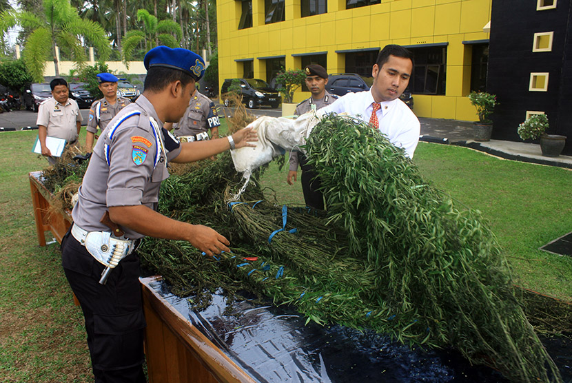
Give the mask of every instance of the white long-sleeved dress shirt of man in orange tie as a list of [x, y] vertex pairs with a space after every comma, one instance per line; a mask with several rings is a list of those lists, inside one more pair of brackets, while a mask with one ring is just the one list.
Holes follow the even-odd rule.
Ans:
[[[371, 90], [348, 93], [337, 99], [336, 102], [320, 109], [320, 112], [323, 114], [346, 112], [369, 123], [371, 112], [374, 110], [372, 106], [374, 102]], [[413, 158], [421, 130], [417, 116], [400, 99], [382, 101], [380, 104], [381, 108], [377, 112], [380, 132], [386, 134], [389, 142], [396, 147], [405, 149], [409, 158]]]

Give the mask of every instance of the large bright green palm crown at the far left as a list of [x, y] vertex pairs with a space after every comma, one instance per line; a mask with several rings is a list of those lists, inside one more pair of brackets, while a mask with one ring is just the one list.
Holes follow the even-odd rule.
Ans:
[[86, 61], [84, 41], [89, 41], [103, 60], [111, 53], [105, 30], [99, 23], [81, 19], [69, 0], [44, 0], [42, 16], [28, 11], [0, 13], [0, 30], [3, 33], [16, 25], [30, 31], [25, 39], [23, 59], [34, 81], [43, 81], [45, 61], [50, 54], [54, 59], [56, 76], [59, 76], [56, 45], [70, 52], [73, 61], [80, 66]]

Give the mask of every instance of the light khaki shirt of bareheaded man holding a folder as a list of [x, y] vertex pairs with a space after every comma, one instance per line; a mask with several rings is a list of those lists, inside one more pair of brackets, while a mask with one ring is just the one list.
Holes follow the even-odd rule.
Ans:
[[75, 100], [68, 99], [61, 104], [50, 97], [40, 104], [36, 123], [48, 128], [48, 136], [73, 143], [77, 140], [77, 121], [81, 123], [83, 118]]

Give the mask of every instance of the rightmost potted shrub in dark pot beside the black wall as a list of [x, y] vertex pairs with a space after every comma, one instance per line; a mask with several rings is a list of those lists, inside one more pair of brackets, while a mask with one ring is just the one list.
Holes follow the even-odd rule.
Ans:
[[523, 140], [540, 138], [542, 156], [558, 157], [566, 145], [566, 136], [546, 134], [549, 127], [546, 114], [533, 114], [527, 118], [527, 121], [518, 125], [518, 135]]

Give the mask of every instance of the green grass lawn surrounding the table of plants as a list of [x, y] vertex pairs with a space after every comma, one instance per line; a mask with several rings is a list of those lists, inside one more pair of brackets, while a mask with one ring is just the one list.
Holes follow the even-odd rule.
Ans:
[[[73, 304], [58, 245], [41, 248], [37, 242], [28, 172], [48, 162], [31, 152], [36, 136], [0, 133], [0, 382], [88, 382], [83, 316]], [[458, 207], [482, 212], [515, 282], [572, 300], [572, 258], [538, 250], [572, 230], [571, 171], [428, 143], [420, 143], [414, 161]], [[303, 203], [300, 179], [289, 186], [286, 175], [287, 165], [279, 172], [273, 163], [263, 185], [280, 204]]]

